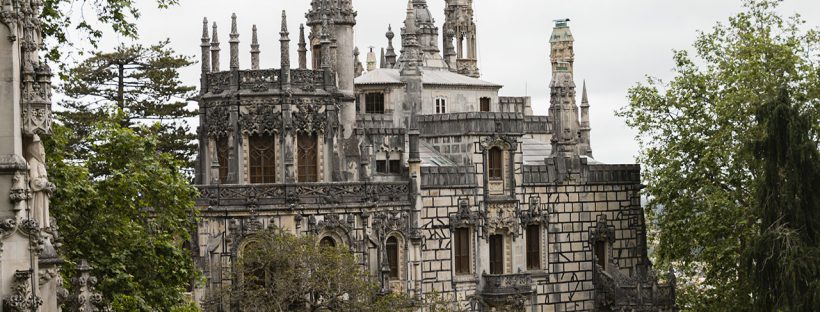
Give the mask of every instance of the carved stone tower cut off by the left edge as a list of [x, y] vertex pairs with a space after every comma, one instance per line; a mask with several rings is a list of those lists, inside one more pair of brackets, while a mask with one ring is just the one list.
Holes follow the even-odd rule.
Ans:
[[[13, 4], [12, 4], [13, 3]], [[2, 311], [57, 311], [60, 259], [42, 137], [51, 134], [51, 69], [40, 58], [40, 1], [0, 4], [0, 299]]]

